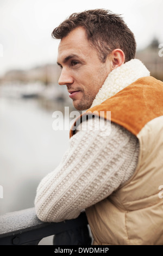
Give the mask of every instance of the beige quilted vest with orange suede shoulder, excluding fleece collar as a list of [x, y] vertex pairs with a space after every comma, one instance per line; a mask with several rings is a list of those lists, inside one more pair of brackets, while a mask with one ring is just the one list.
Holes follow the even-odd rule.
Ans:
[[[111, 121], [140, 142], [134, 175], [86, 209], [94, 245], [163, 245], [163, 83], [143, 77], [87, 112], [111, 111]], [[86, 113], [83, 114], [83, 116]], [[83, 116], [78, 121], [83, 120]], [[76, 123], [74, 124], [76, 125]], [[70, 130], [70, 137], [74, 129]]]

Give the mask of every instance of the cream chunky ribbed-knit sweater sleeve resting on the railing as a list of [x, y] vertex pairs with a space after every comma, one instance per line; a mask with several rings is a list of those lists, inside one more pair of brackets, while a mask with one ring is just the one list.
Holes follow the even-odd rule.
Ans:
[[60, 222], [76, 218], [134, 173], [138, 139], [114, 123], [109, 136], [104, 136], [104, 132], [105, 127], [95, 130], [90, 121], [85, 121], [72, 136], [59, 166], [37, 187], [35, 209], [40, 220]]

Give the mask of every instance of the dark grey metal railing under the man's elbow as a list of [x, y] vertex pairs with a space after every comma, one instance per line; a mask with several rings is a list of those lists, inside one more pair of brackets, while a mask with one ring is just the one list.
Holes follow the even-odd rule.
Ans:
[[63, 222], [42, 222], [34, 208], [0, 216], [0, 245], [38, 245], [54, 235], [53, 245], [91, 245], [92, 239], [85, 212]]

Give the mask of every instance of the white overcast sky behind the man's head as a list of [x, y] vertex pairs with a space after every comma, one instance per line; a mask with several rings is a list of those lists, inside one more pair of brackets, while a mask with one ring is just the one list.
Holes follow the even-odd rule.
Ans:
[[0, 75], [55, 63], [59, 40], [52, 39], [53, 29], [74, 12], [96, 8], [122, 14], [137, 49], [154, 37], [163, 43], [162, 0], [0, 0]]

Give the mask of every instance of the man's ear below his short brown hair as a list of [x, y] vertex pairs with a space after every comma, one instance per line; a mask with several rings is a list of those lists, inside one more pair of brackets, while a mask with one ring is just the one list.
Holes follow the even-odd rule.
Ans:
[[111, 52], [111, 69], [116, 69], [121, 66], [125, 61], [124, 52], [121, 49], [115, 49]]

